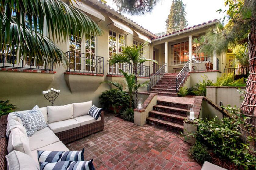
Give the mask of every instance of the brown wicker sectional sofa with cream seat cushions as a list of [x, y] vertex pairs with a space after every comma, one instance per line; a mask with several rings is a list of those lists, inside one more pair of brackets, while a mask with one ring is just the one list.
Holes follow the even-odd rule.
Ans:
[[[45, 127], [44, 129], [37, 131], [31, 137], [28, 137], [28, 141], [29, 141], [28, 146], [30, 151], [28, 151], [29, 153], [25, 153], [26, 151], [23, 152], [29, 155], [30, 157], [32, 157], [33, 160], [38, 164], [38, 166], [39, 166], [39, 163], [37, 161], [37, 150], [68, 151], [69, 149], [65, 146], [65, 144], [72, 141], [76, 141], [80, 138], [83, 138], [87, 135], [93, 134], [95, 132], [98, 132], [104, 129], [104, 113], [103, 112], [101, 112], [101, 116], [98, 118], [98, 120], [95, 120], [93, 117], [92, 119], [91, 116], [87, 114], [75, 117], [75, 113], [74, 113], [72, 115], [72, 117], [73, 116], [74, 117], [70, 120], [68, 119], [68, 120], [61, 120], [59, 122], [51, 122], [49, 119], [50, 114], [48, 113], [49, 108], [43, 107], [43, 108], [40, 108], [40, 110], [44, 114], [45, 121], [48, 123], [48, 127]], [[8, 130], [8, 128], [10, 127], [10, 123], [8, 123], [8, 121], [10, 121], [12, 118], [17, 119], [17, 117], [14, 117], [14, 116], [15, 114], [9, 113], [8, 116], [4, 115], [4, 116], [1, 116], [0, 118], [0, 169], [7, 169], [7, 166], [8, 166], [5, 159], [5, 156], [8, 154], [8, 151], [10, 152], [10, 148], [11, 148], [8, 145], [8, 141], [13, 143], [12, 141], [14, 138], [13, 135], [16, 132], [12, 133], [12, 131], [17, 131], [15, 129]], [[60, 114], [59, 116], [60, 118], [61, 117], [65, 118], [65, 116], [62, 116], [62, 114]], [[57, 119], [59, 119], [59, 117], [57, 117]], [[17, 127], [16, 129], [19, 129], [19, 128]], [[8, 131], [10, 131], [9, 138], [7, 137]], [[18, 149], [15, 149], [14, 147], [14, 150], [18, 150]]]

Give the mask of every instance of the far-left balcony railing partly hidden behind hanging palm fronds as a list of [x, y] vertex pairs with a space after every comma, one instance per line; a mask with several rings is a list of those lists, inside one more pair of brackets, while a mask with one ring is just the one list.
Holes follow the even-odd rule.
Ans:
[[46, 61], [37, 60], [36, 57], [24, 59], [24, 56], [19, 58], [14, 53], [8, 53], [0, 56], [0, 68], [50, 71], [53, 70], [53, 65], [48, 66]]

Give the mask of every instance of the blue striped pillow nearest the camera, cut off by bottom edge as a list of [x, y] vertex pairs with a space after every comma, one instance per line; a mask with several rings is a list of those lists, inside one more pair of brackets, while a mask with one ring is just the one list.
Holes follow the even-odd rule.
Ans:
[[39, 164], [40, 170], [95, 170], [92, 161], [39, 162]]

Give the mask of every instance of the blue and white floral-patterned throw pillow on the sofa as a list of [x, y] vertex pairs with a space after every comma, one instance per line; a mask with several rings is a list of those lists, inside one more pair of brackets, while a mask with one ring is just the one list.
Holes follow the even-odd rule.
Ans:
[[30, 111], [16, 112], [15, 114], [20, 117], [28, 137], [32, 136], [36, 131], [46, 127], [44, 115], [37, 105]]

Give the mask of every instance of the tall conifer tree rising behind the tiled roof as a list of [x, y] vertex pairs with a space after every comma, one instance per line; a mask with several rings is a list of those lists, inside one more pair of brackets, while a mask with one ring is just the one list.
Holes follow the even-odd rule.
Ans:
[[166, 19], [166, 32], [172, 33], [180, 29], [184, 29], [187, 26], [187, 20], [185, 18], [186, 5], [183, 4], [182, 0], [173, 0], [170, 14]]

